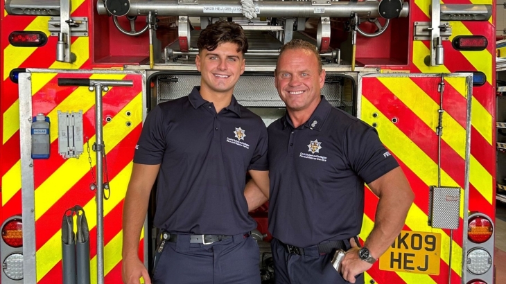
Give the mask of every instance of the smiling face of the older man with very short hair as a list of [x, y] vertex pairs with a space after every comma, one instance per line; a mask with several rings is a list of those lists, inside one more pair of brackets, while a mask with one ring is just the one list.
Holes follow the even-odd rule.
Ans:
[[318, 58], [303, 48], [287, 49], [279, 56], [274, 85], [286, 104], [288, 114], [311, 116], [320, 103], [325, 71]]

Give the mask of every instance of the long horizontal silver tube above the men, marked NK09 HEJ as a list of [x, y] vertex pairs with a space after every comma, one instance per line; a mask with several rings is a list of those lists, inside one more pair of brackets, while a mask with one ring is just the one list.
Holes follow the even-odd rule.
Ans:
[[[20, 1], [20, 0], [18, 0]], [[99, 15], [108, 15], [106, 0], [97, 2]], [[331, 2], [325, 5], [324, 10], [315, 14], [315, 6], [312, 1], [258, 1], [255, 6], [258, 8], [259, 17], [350, 17], [357, 14], [359, 17], [381, 17], [379, 5], [381, 2], [347, 1]], [[189, 16], [189, 17], [237, 17], [234, 10], [241, 9], [240, 1], [229, 0], [199, 0], [198, 3], [180, 3], [178, 0], [131, 0], [130, 9], [125, 14], [123, 11], [112, 12], [114, 16], [123, 15], [148, 15], [148, 11], [154, 11], [157, 16]], [[228, 12], [229, 11], [229, 12]], [[404, 2], [402, 10], [399, 10], [396, 17], [408, 17], [409, 4]], [[119, 14], [119, 15], [115, 15]]]

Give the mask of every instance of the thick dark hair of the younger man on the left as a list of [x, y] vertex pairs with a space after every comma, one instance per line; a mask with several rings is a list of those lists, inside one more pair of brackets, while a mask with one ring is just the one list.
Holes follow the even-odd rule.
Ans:
[[197, 41], [198, 52], [200, 53], [204, 48], [213, 51], [218, 45], [225, 42], [237, 44], [237, 51], [240, 51], [243, 55], [247, 52], [247, 38], [243, 28], [236, 23], [223, 20], [216, 21], [216, 23], [210, 24], [202, 30]]

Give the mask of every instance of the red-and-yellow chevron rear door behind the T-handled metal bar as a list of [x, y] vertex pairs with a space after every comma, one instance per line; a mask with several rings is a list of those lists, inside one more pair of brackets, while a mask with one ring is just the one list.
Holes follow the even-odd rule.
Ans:
[[[61, 283], [66, 273], [62, 218], [76, 205], [85, 211], [89, 227], [91, 279], [103, 266], [105, 283], [121, 282], [121, 215], [146, 116], [145, 85], [143, 71], [27, 69], [19, 74], [24, 283]], [[95, 150], [100, 149], [105, 153], [102, 205], [96, 198], [101, 173]], [[74, 216], [74, 233], [76, 222]], [[143, 236], [140, 256], [147, 261]]]

